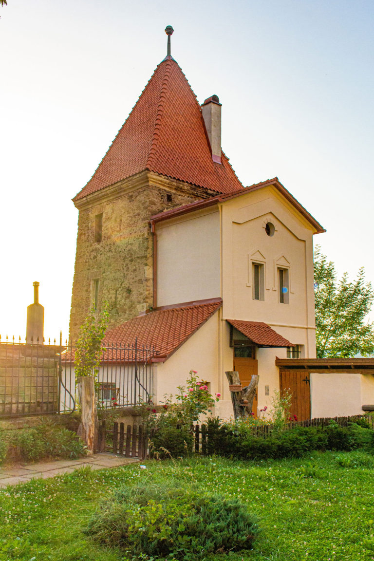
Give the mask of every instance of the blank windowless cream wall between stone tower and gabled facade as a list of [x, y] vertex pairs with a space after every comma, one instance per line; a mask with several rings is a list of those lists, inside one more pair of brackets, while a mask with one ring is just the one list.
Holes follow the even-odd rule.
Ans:
[[217, 208], [156, 226], [157, 305], [220, 296], [220, 231]]

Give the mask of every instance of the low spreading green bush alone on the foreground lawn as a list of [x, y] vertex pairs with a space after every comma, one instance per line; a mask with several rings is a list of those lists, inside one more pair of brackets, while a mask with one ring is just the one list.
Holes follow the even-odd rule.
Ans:
[[210, 553], [252, 549], [258, 526], [238, 499], [144, 485], [117, 492], [86, 533], [130, 555], [191, 561]]

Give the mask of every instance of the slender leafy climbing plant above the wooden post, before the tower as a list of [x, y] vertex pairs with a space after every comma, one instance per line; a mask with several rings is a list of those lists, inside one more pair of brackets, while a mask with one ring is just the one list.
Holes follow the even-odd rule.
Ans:
[[96, 376], [99, 373], [101, 346], [108, 325], [108, 304], [98, 312], [93, 305], [80, 329], [80, 337], [76, 343], [75, 375]]

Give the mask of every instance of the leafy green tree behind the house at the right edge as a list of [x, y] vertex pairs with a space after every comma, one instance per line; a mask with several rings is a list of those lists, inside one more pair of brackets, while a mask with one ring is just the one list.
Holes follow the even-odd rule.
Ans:
[[335, 265], [316, 246], [314, 254], [317, 358], [353, 357], [374, 352], [374, 323], [366, 317], [374, 300], [370, 282], [364, 282], [364, 269], [348, 280], [336, 278]]

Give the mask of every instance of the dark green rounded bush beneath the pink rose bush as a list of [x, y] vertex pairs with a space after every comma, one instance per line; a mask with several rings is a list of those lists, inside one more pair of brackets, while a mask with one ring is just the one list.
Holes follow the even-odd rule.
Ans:
[[193, 435], [186, 426], [178, 428], [164, 424], [151, 436], [151, 455], [161, 459], [179, 458], [192, 454]]

